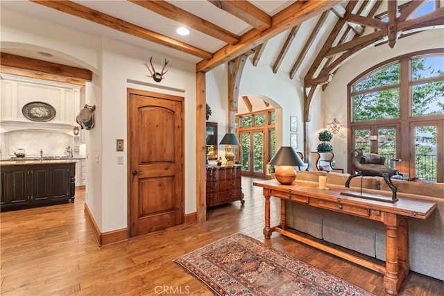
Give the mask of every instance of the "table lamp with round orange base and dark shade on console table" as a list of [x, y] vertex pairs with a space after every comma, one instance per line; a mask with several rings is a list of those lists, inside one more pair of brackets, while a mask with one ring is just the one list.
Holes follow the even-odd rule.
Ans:
[[275, 177], [280, 184], [289, 185], [296, 179], [296, 170], [293, 166], [305, 166], [299, 155], [290, 146], [281, 146], [278, 153], [268, 162], [277, 166]]

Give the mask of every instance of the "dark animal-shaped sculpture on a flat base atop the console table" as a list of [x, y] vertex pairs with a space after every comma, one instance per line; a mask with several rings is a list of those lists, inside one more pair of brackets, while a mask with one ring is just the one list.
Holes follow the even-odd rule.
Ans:
[[[353, 177], [358, 177], [358, 176], [383, 177], [384, 181], [387, 183], [387, 185], [390, 187], [393, 193], [391, 200], [386, 200], [386, 198], [384, 199], [379, 195], [377, 197], [375, 197], [375, 195], [371, 196], [359, 195], [359, 196], [360, 197], [362, 196], [364, 198], [372, 198], [376, 200], [383, 200], [389, 202], [395, 202], [396, 200], [398, 200], [398, 198], [396, 198], [397, 188], [391, 182], [391, 177], [393, 177], [394, 175], [399, 175], [399, 171], [393, 168], [389, 168], [388, 166], [384, 166], [384, 160], [385, 160], [384, 157], [381, 157], [375, 153], [366, 153], [365, 155], [363, 155], [362, 150], [357, 149], [357, 157], [354, 157], [352, 159], [352, 168], [357, 173], [350, 175], [348, 177], [348, 180], [345, 182], [345, 187], [347, 188], [350, 187], [350, 181], [352, 180]], [[343, 194], [356, 196], [354, 194], [350, 194], [350, 192]]]

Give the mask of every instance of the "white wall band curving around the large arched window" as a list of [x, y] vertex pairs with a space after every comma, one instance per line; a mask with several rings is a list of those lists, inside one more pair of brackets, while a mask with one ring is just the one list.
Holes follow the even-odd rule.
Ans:
[[[343, 64], [336, 72], [332, 82], [325, 92], [322, 92], [323, 127], [332, 122], [336, 117], [344, 125], [341, 131], [334, 135], [332, 146], [334, 148], [336, 167], [347, 168], [347, 85], [358, 76], [379, 62], [391, 58], [422, 51], [425, 49], [438, 49], [444, 46], [444, 34], [442, 29], [434, 29], [412, 35], [396, 41], [395, 48], [391, 49], [387, 44], [372, 46], [358, 53], [348, 62]], [[316, 110], [316, 109], [314, 109]]]

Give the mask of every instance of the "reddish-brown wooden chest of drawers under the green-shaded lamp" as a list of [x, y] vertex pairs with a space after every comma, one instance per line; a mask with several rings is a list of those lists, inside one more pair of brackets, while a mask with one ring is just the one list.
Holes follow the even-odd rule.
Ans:
[[241, 188], [241, 166], [207, 166], [207, 207], [240, 200], [245, 203]]

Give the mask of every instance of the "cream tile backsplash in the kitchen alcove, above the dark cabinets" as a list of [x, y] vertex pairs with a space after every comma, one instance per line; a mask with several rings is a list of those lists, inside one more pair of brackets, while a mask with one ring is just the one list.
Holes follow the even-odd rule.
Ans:
[[18, 148], [25, 150], [26, 156], [40, 156], [40, 149], [45, 156], [64, 155], [67, 146], [74, 146], [74, 137], [60, 132], [45, 130], [19, 130], [1, 134], [1, 159], [15, 157]]

